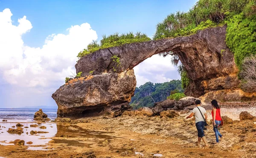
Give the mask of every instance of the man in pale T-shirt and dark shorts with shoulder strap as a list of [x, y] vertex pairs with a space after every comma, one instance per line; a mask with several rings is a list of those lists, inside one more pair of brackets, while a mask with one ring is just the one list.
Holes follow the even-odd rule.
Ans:
[[204, 107], [201, 107], [200, 100], [196, 100], [195, 104], [197, 107], [195, 107], [192, 110], [192, 113], [189, 116], [187, 116], [186, 119], [191, 118], [192, 116], [195, 115], [195, 126], [198, 130], [198, 146], [200, 145], [201, 139], [203, 139], [205, 147], [208, 147], [206, 137], [204, 135], [204, 120], [207, 119], [207, 113]]

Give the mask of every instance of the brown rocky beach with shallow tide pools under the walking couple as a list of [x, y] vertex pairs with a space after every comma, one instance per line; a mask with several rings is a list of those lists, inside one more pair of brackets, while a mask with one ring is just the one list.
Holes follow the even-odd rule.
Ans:
[[[251, 114], [255, 112], [255, 107], [244, 108], [246, 109], [222, 108], [222, 115], [237, 120], [243, 110]], [[109, 119], [95, 117], [81, 119], [87, 123], [77, 124], [49, 122], [40, 124], [46, 126], [47, 129], [44, 131], [49, 133], [38, 135], [26, 135], [26, 128], [22, 135], [9, 134], [6, 132], [8, 127], [16, 123], [0, 122], [0, 141], [7, 140], [0, 143], [0, 156], [4, 158], [256, 157], [256, 122], [236, 121], [234, 124], [225, 124], [220, 130], [224, 140], [219, 144], [215, 144], [215, 135], [212, 126], [209, 126], [205, 134], [210, 146], [204, 148], [203, 142], [201, 147], [196, 146], [195, 122], [192, 119], [184, 119], [187, 115], [168, 119], [159, 116], [121, 116]], [[21, 124], [29, 127], [29, 124], [34, 123]], [[42, 131], [39, 127], [29, 127], [27, 130]], [[4, 133], [1, 133], [2, 131]], [[17, 138], [24, 140], [25, 146], [6, 144]], [[31, 140], [32, 145], [26, 144]], [[54, 140], [55, 143], [48, 143], [49, 140]]]

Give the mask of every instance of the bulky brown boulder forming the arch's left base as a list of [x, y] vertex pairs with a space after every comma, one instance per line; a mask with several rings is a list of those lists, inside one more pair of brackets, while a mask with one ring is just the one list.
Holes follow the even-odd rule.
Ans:
[[58, 104], [58, 117], [119, 116], [131, 108], [129, 102], [135, 87], [133, 70], [105, 73], [73, 79], [52, 98]]

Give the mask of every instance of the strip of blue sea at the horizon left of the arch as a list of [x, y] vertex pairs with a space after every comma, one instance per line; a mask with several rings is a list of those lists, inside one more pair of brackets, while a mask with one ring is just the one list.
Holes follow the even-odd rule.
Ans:
[[[7, 121], [33, 121], [35, 112], [39, 109], [1, 109], [0, 122], [5, 119]], [[43, 112], [48, 115], [48, 118], [54, 120], [57, 117], [57, 109], [43, 109]]]

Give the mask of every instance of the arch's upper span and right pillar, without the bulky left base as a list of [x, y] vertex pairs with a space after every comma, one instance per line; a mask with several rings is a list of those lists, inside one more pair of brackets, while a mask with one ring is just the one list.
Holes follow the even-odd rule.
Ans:
[[191, 79], [187, 96], [199, 97], [214, 90], [235, 90], [239, 89], [240, 83], [236, 76], [238, 69], [225, 39], [226, 26], [223, 26], [198, 31], [188, 37], [103, 49], [81, 58], [76, 64], [76, 72], [83, 72], [84, 75], [90, 71], [94, 74], [113, 72], [113, 55], [120, 58], [122, 66], [119, 71], [131, 70], [154, 54], [172, 51], [179, 56]]

